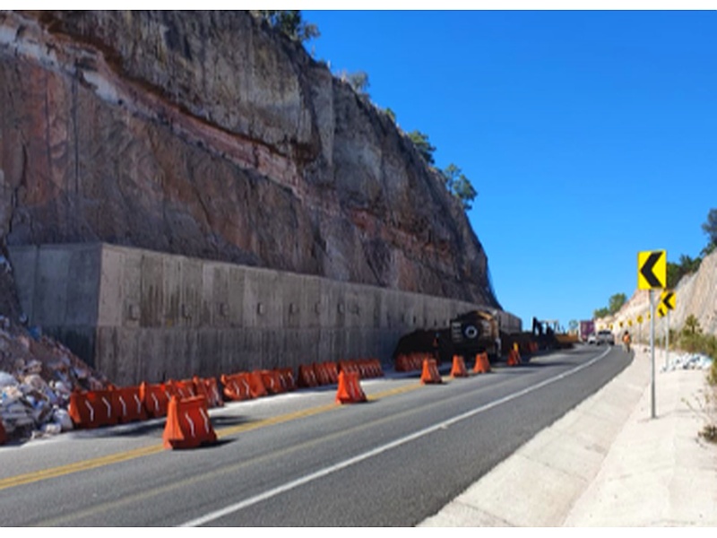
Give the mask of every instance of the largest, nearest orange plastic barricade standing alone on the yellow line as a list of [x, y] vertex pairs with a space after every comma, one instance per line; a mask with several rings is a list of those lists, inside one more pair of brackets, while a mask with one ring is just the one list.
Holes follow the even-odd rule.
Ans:
[[216, 440], [207, 399], [204, 396], [185, 399], [172, 396], [167, 410], [167, 424], [162, 434], [164, 447], [194, 448]]

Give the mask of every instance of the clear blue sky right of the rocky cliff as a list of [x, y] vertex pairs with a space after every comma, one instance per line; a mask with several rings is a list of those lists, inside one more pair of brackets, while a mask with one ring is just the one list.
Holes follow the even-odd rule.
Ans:
[[588, 319], [632, 296], [637, 253], [697, 256], [717, 208], [717, 12], [304, 11], [307, 44], [368, 74], [479, 195], [505, 310]]

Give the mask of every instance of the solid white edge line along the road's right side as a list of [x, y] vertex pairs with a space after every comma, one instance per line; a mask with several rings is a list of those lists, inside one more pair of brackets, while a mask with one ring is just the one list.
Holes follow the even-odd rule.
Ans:
[[350, 467], [350, 465], [358, 464], [364, 460], [367, 460], [370, 457], [378, 456], [379, 454], [382, 454], [382, 453], [384, 453], [388, 450], [391, 450], [395, 447], [400, 447], [402, 445], [405, 445], [406, 443], [409, 443], [410, 441], [425, 437], [428, 434], [433, 433], [434, 431], [443, 430], [446, 426], [451, 426], [451, 425], [455, 424], [456, 422], [464, 421], [464, 420], [469, 419], [472, 416], [477, 415], [481, 412], [486, 412], [489, 409], [497, 407], [498, 405], [506, 404], [516, 398], [520, 398], [521, 396], [528, 395], [531, 392], [534, 392], [544, 386], [548, 386], [552, 383], [555, 383], [556, 381], [559, 381], [560, 379], [565, 379], [566, 377], [572, 376], [573, 374], [579, 372], [580, 370], [586, 369], [589, 366], [592, 366], [598, 360], [602, 360], [605, 357], [605, 355], [607, 355], [609, 353], [609, 351], [611, 351], [611, 349], [612, 348], [609, 347], [608, 349], [606, 349], [603, 353], [601, 353], [594, 359], [589, 360], [588, 362], [585, 362], [584, 364], [581, 364], [580, 366], [578, 366], [574, 369], [563, 372], [562, 374], [559, 374], [556, 377], [550, 377], [549, 379], [541, 381], [538, 385], [523, 388], [523, 390], [520, 390], [512, 395], [506, 395], [502, 398], [495, 400], [494, 402], [491, 402], [491, 403], [485, 404], [485, 405], [481, 405], [480, 407], [477, 407], [476, 409], [472, 409], [469, 412], [464, 412], [460, 415], [456, 415], [456, 416], [454, 416], [454, 418], [448, 419], [447, 421], [443, 421], [438, 424], [434, 424], [433, 426], [430, 426], [424, 430], [419, 430], [419, 431], [416, 431], [415, 433], [412, 433], [408, 436], [398, 438], [390, 443], [386, 443], [385, 445], [382, 445], [381, 447], [376, 447], [373, 450], [369, 450], [368, 452], [364, 452], [363, 454], [359, 454], [358, 456], [351, 457], [351, 458], [344, 460], [338, 464], [333, 464], [330, 467], [325, 467], [324, 469], [322, 469], [320, 471], [316, 471], [315, 473], [307, 474], [306, 476], [298, 478], [297, 480], [287, 482], [287, 483], [279, 486], [278, 488], [273, 488], [272, 490], [264, 491], [263, 493], [260, 493], [259, 495], [255, 495], [254, 497], [250, 497], [249, 499], [245, 499], [245, 500], [242, 500], [233, 505], [229, 505], [226, 508], [221, 508], [220, 510], [215, 510], [214, 512], [210, 512], [206, 516], [197, 517], [196, 519], [192, 519], [182, 525], [177, 525], [177, 526], [194, 527], [194, 526], [199, 526], [199, 525], [204, 525], [204, 524], [210, 523], [216, 519], [219, 519], [220, 517], [229, 516], [229, 514], [233, 514], [234, 512], [238, 512], [239, 510], [242, 510], [244, 508], [249, 508], [259, 502], [262, 502], [263, 500], [271, 499], [272, 497], [280, 495], [281, 493], [285, 493], [286, 491], [293, 490], [294, 488], [298, 488], [299, 486], [303, 486], [304, 484], [307, 484], [308, 482], [313, 482], [313, 481], [315, 481], [319, 478], [323, 478], [324, 476], [327, 476], [331, 473], [341, 471], [341, 469]]

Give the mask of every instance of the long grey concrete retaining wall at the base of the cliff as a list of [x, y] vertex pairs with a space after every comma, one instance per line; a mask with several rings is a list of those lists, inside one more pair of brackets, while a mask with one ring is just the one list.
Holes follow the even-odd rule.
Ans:
[[[468, 302], [107, 244], [11, 247], [22, 308], [123, 386], [313, 361], [387, 362]], [[508, 332], [520, 319], [499, 313]]]

